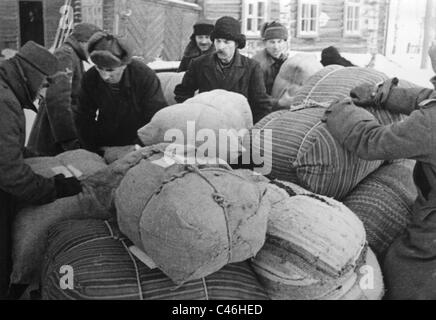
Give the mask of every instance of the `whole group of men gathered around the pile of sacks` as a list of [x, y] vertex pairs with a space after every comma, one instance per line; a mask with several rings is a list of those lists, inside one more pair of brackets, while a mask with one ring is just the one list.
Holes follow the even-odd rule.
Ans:
[[[266, 23], [261, 30], [265, 49], [252, 59], [239, 52], [246, 38], [234, 18], [222, 17], [215, 24], [200, 21], [193, 29], [178, 70], [186, 73], [174, 91], [177, 102], [197, 91], [237, 92], [247, 98], [254, 122], [286, 107], [270, 96], [287, 59], [286, 27]], [[335, 48], [327, 49], [324, 65], [352, 65]], [[88, 59], [94, 66], [85, 72], [83, 62]], [[34, 101], [42, 88], [45, 98], [37, 110]], [[436, 297], [434, 92], [400, 89], [396, 81], [375, 88], [361, 86], [351, 92], [350, 100], [333, 104], [323, 119], [336, 139], [365, 159], [418, 160], [415, 178], [420, 193], [414, 221], [386, 258], [386, 277], [393, 288], [390, 295], [395, 298]], [[404, 122], [382, 126], [360, 108], [374, 104], [410, 116]], [[76, 178], [44, 178], [24, 159], [78, 148], [102, 153], [110, 146], [141, 145], [137, 130], [166, 106], [156, 73], [132, 58], [132, 48], [123, 39], [92, 24], [78, 24], [54, 54], [28, 42], [0, 65], [0, 299], [14, 295], [9, 275], [11, 225], [17, 208], [82, 191]], [[24, 109], [37, 112], [27, 146]]]

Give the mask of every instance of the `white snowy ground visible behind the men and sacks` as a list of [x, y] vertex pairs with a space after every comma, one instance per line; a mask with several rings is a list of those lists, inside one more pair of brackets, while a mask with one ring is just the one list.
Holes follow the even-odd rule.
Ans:
[[[292, 56], [297, 52], [292, 51], [290, 55]], [[314, 52], [317, 57], [321, 60], [321, 53]], [[345, 58], [350, 60], [353, 64], [360, 67], [366, 67], [371, 61], [370, 54], [354, 54], [354, 53], [341, 53]], [[408, 80], [419, 86], [432, 88], [430, 83], [430, 78], [434, 75], [433, 70], [430, 67], [427, 69], [420, 69], [420, 56], [419, 55], [403, 55], [403, 56], [393, 56], [385, 57], [382, 55], [377, 55], [375, 60], [374, 69], [384, 72], [389, 77], [398, 77], [400, 79]], [[152, 69], [172, 69], [177, 68], [179, 61], [154, 61], [148, 65]], [[86, 69], [91, 67], [87, 65]], [[32, 128], [33, 121], [35, 119], [35, 113], [29, 110], [25, 111], [27, 126], [26, 133], [29, 135]]]

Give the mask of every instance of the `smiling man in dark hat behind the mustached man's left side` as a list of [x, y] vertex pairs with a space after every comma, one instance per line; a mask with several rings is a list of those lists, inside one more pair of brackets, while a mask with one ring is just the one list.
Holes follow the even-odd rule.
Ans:
[[189, 41], [188, 46], [183, 53], [183, 58], [177, 72], [188, 70], [189, 64], [193, 59], [215, 51], [215, 47], [210, 40], [212, 30], [212, 22], [204, 20], [194, 24], [194, 33], [191, 35], [191, 41]]

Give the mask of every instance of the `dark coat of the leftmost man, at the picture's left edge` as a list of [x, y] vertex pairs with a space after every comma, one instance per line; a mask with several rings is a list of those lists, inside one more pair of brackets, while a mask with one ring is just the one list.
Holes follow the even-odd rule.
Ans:
[[27, 150], [23, 108], [35, 110], [16, 64], [17, 58], [0, 66], [0, 190], [14, 200], [43, 204], [56, 198], [54, 179], [44, 178], [24, 163]]

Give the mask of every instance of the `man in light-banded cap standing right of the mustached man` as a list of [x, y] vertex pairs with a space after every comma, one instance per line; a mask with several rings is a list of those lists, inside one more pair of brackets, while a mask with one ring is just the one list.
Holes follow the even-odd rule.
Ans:
[[288, 30], [276, 21], [265, 23], [261, 30], [265, 49], [256, 53], [254, 60], [260, 63], [265, 80], [266, 92], [270, 95], [277, 74], [288, 58], [286, 53]]

